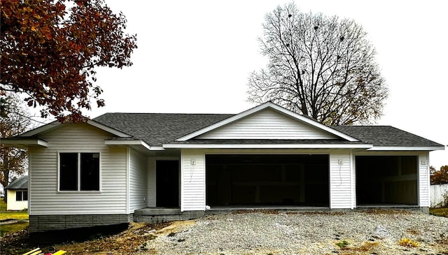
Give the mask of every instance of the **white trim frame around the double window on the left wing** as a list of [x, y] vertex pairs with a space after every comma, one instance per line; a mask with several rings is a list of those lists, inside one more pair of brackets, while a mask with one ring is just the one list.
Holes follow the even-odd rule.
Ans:
[[[76, 172], [76, 177], [78, 178], [77, 180], [77, 190], [70, 190], [70, 191], [66, 191], [66, 190], [61, 190], [61, 183], [60, 183], [60, 177], [61, 177], [61, 157], [60, 154], [61, 153], [76, 153], [78, 154], [78, 169]], [[81, 169], [80, 169], [80, 154], [81, 153], [95, 153], [95, 154], [99, 154], [99, 190], [87, 190], [87, 191], [83, 191], [80, 190], [81, 187], [81, 183], [80, 183], [80, 179], [81, 179]], [[80, 194], [80, 193], [102, 193], [102, 152], [98, 152], [98, 151], [91, 151], [91, 150], [59, 150], [57, 151], [57, 193], [64, 193], [64, 194], [69, 194], [69, 193], [73, 193], [73, 194]]]

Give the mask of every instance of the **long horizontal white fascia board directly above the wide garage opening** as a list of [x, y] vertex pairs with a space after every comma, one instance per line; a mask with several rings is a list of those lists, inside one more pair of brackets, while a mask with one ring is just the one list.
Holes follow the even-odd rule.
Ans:
[[179, 144], [167, 143], [164, 144], [165, 149], [369, 149], [373, 145], [356, 144], [356, 145], [325, 145], [325, 144], [311, 144], [311, 145], [297, 145], [297, 144], [250, 144], [250, 145], [217, 145], [217, 144]]

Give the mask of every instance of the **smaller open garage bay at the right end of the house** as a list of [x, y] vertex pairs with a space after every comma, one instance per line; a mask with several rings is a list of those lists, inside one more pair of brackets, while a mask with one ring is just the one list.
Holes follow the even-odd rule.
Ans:
[[418, 205], [417, 162], [417, 156], [356, 156], [357, 205]]

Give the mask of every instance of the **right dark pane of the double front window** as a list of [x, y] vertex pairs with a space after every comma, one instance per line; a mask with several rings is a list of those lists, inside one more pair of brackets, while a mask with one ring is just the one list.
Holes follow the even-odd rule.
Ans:
[[99, 153], [81, 153], [81, 190], [99, 190]]

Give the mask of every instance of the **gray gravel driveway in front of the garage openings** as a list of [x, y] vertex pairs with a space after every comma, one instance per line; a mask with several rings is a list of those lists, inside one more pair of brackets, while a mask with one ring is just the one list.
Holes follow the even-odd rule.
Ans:
[[448, 218], [407, 211], [217, 214], [151, 234], [142, 254], [448, 254]]

